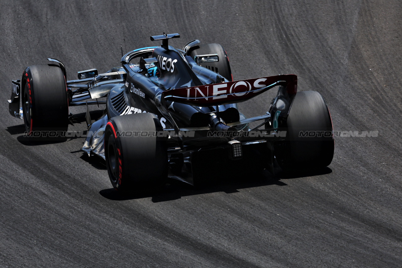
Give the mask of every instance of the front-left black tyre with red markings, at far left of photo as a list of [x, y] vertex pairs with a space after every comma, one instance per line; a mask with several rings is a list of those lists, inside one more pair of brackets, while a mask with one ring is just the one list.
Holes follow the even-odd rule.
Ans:
[[55, 65], [33, 65], [22, 78], [22, 104], [25, 129], [67, 131], [68, 98], [66, 79]]

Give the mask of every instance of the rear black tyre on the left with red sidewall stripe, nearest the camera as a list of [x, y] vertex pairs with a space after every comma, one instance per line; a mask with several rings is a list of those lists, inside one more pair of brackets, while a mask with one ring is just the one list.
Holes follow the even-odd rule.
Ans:
[[166, 138], [140, 133], [161, 130], [160, 121], [152, 113], [110, 119], [105, 129], [105, 158], [114, 188], [138, 192], [144, 187], [162, 186], [168, 174]]

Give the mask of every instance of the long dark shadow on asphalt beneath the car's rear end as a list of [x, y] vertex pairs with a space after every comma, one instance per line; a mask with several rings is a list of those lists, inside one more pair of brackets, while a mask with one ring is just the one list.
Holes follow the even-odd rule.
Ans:
[[151, 197], [153, 203], [165, 202], [170, 200], [180, 199], [184, 196], [192, 196], [198, 194], [209, 194], [213, 192], [225, 192], [226, 194], [232, 194], [239, 192], [239, 189], [254, 188], [261, 186], [287, 186], [283, 180], [292, 178], [303, 178], [310, 176], [319, 176], [331, 173], [332, 170], [328, 167], [321, 170], [314, 170], [312, 172], [299, 173], [298, 175], [288, 175], [279, 173], [273, 175], [266, 170], [261, 172], [255, 172], [254, 174], [239, 174], [235, 178], [222, 178], [220, 180], [214, 180], [207, 186], [194, 187], [185, 182], [180, 182], [174, 179], [168, 179], [166, 185], [162, 190], [158, 192], [139, 192], [133, 194], [121, 194], [114, 188], [100, 190], [99, 194], [110, 200], [132, 200], [140, 198]]

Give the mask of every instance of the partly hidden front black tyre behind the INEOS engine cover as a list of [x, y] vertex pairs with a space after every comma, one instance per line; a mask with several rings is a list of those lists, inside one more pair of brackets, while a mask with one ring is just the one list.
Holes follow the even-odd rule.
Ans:
[[222, 45], [219, 44], [201, 44], [198, 45], [199, 48], [191, 51], [191, 57], [196, 55], [207, 55], [207, 54], [218, 54], [219, 61], [201, 63], [202, 67], [208, 68], [216, 73], [219, 73], [224, 78], [229, 81], [233, 81], [232, 71], [230, 70], [228, 55]]

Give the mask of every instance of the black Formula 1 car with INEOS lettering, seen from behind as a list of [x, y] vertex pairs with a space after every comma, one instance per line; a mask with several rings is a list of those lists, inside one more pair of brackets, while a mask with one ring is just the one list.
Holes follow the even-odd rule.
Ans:
[[[318, 92], [297, 92], [293, 74], [233, 81], [222, 45], [168, 45], [178, 37], [152, 36], [162, 41], [159, 47], [122, 51], [121, 67], [81, 71], [78, 80], [66, 81], [57, 59], [29, 66], [21, 80], [12, 81], [10, 114], [24, 119], [35, 138], [43, 131], [66, 133], [69, 106], [86, 105], [88, 112], [90, 104], [106, 104], [92, 124], [87, 113], [81, 150], [106, 160], [118, 190], [160, 185], [167, 177], [197, 185], [214, 168], [223, 174], [251, 168], [274, 173], [274, 165], [292, 172], [331, 163], [332, 121]], [[239, 112], [238, 102], [276, 86], [265, 115]]]

